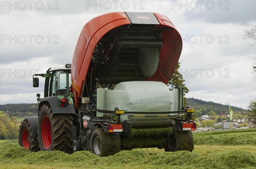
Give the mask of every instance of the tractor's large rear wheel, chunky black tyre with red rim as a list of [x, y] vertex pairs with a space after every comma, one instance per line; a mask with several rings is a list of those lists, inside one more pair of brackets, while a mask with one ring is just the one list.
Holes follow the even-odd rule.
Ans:
[[73, 118], [66, 114], [52, 114], [48, 104], [43, 104], [38, 117], [38, 141], [42, 151], [60, 150], [71, 154], [71, 126]]

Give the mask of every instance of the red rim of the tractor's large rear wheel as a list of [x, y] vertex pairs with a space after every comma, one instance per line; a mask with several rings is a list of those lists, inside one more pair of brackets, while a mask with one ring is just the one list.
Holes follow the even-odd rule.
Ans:
[[52, 142], [52, 127], [48, 116], [44, 116], [42, 121], [42, 140], [45, 148], [49, 149]]

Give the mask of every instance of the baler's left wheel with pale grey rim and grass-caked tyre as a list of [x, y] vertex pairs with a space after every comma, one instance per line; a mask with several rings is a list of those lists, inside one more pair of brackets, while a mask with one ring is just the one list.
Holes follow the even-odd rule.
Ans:
[[91, 152], [100, 157], [114, 155], [121, 151], [120, 138], [114, 138], [112, 134], [107, 134], [102, 128], [93, 131], [91, 137]]

